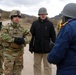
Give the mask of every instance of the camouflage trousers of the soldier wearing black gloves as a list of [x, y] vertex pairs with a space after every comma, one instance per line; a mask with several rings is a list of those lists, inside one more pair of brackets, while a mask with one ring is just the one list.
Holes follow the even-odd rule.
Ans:
[[23, 50], [5, 50], [4, 51], [4, 74], [5, 75], [21, 75], [23, 69]]

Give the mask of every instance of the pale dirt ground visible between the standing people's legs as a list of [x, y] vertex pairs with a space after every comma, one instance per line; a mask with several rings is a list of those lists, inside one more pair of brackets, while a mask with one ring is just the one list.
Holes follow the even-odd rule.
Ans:
[[[33, 74], [33, 54], [28, 50], [29, 46], [24, 48], [24, 69], [22, 75], [34, 75]], [[43, 73], [42, 73], [43, 75]], [[52, 65], [52, 75], [56, 75], [56, 66]]]

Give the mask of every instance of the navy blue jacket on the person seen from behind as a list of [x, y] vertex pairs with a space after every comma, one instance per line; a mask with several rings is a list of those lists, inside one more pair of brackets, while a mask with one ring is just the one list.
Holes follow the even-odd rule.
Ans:
[[56, 75], [76, 75], [76, 20], [62, 27], [47, 59], [57, 65]]

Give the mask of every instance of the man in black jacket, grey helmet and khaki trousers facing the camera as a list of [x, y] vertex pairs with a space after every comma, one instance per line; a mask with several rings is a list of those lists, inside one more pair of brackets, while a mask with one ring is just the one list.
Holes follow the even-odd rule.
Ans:
[[30, 52], [34, 52], [34, 75], [41, 75], [41, 61], [44, 63], [44, 74], [51, 75], [51, 67], [47, 62], [47, 55], [52, 49], [51, 41], [55, 42], [56, 34], [53, 24], [47, 18], [47, 10], [42, 7], [38, 12], [39, 18], [34, 21], [30, 32], [32, 39]]

